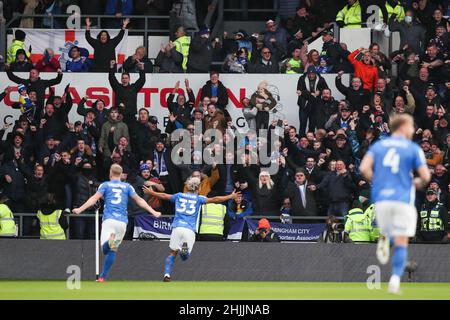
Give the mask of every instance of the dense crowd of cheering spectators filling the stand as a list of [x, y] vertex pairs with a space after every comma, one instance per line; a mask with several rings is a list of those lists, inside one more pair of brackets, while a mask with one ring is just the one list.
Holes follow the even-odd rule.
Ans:
[[[52, 93], [49, 99], [44, 98], [45, 90], [60, 83], [63, 77], [60, 66], [52, 60], [52, 52], [47, 51], [43, 68], [52, 67], [58, 76], [43, 80], [40, 71], [49, 70], [27, 65], [26, 48], [19, 44], [16, 58], [6, 64], [6, 71], [10, 80], [26, 89], [19, 88], [23, 96], [21, 93], [21, 102], [13, 106], [22, 115], [0, 149], [3, 156], [0, 178], [8, 206], [13, 212], [35, 212], [45, 199], [43, 194], [54, 193], [57, 205], [69, 212], [95, 192], [99, 182], [108, 178], [109, 166], [117, 163], [124, 168], [123, 180], [132, 183], [141, 196], [164, 213], [172, 213], [170, 204], [144, 195], [142, 185], [176, 193], [183, 190], [187, 177], [199, 176], [201, 194], [242, 191], [242, 197], [227, 204], [233, 219], [280, 213], [343, 216], [354, 200], [370, 198], [370, 185], [358, 170], [363, 155], [370, 145], [389, 135], [392, 115], [408, 113], [416, 124], [414, 140], [420, 144], [433, 171], [430, 188], [435, 190], [441, 205], [449, 208], [449, 23], [443, 18], [442, 9], [428, 3], [433, 14], [424, 15], [422, 6], [417, 8], [412, 1], [405, 7], [403, 21], [397, 21], [394, 15], [388, 17], [390, 29], [400, 30], [402, 45], [400, 50], [386, 55], [376, 43], [349, 52], [344, 44], [335, 42], [333, 33], [327, 30], [329, 22], [314, 15], [317, 7], [313, 4], [318, 3], [302, 3], [296, 16], [283, 22], [284, 27], [269, 20], [265, 32], [250, 37], [245, 30], [239, 30], [233, 38], [225, 35], [218, 42], [211, 40], [210, 30], [203, 27], [186, 48], [186, 33], [180, 27], [173, 42], [161, 45], [156, 59], [160, 72], [208, 73], [214, 57], [225, 54], [225, 72], [299, 74], [297, 91], [292, 95], [298, 97], [300, 125], [294, 126], [288, 120], [271, 121], [270, 111], [276, 102], [267, 83], [262, 81], [242, 101], [243, 115], [253, 130], [233, 152], [227, 146], [239, 141], [242, 133], [233, 126], [234, 119], [227, 111], [226, 83], [220, 81], [218, 72], [210, 72], [199, 105], [195, 105], [196, 97], [188, 79], [184, 83], [187, 97], [179, 94], [180, 82], [174, 84], [167, 101], [169, 121], [162, 126], [147, 109], [139, 109], [137, 105], [145, 73], [153, 68], [145, 57], [145, 49], [137, 48], [125, 61], [119, 81], [115, 75], [118, 70], [114, 47], [123, 32], [114, 39], [107, 32], [92, 39], [87, 20], [86, 37], [94, 48], [92, 65], [87, 70], [108, 72], [116, 99], [115, 105], [106, 109], [102, 100], [87, 108], [87, 98], [83, 98], [77, 112], [84, 120], [71, 123], [68, 112], [73, 103], [67, 87], [63, 96]], [[348, 5], [352, 4], [349, 1]], [[125, 20], [122, 30], [127, 24]], [[419, 34], [422, 38], [416, 36]], [[16, 34], [16, 41], [23, 41], [21, 36]], [[308, 50], [304, 39], [311, 36], [322, 36], [322, 52]], [[76, 63], [80, 50], [72, 49], [73, 71], [83, 71]], [[399, 67], [395, 78], [390, 76], [394, 63]], [[29, 78], [19, 78], [14, 71], [28, 71]], [[135, 83], [130, 83], [129, 72], [139, 73]], [[335, 74], [336, 88], [345, 99], [334, 98], [336, 92], [331, 91], [321, 76], [323, 73]], [[352, 73], [349, 86], [341, 81], [344, 73]], [[0, 99], [10, 90], [6, 88]], [[195, 133], [196, 125], [201, 125], [203, 133], [213, 129], [223, 137], [204, 138]], [[221, 154], [223, 163], [199, 164], [196, 160], [201, 154], [191, 152], [191, 164], [175, 164], [173, 151], [180, 156], [187, 152], [169, 142], [168, 136], [178, 128], [190, 132], [193, 146], [202, 145], [211, 154]], [[275, 174], [268, 170], [270, 163], [255, 161], [257, 152], [264, 150], [270, 141], [256, 134], [261, 129], [273, 129], [271, 134], [275, 135], [275, 144], [268, 148], [267, 155], [271, 163], [279, 165]], [[420, 209], [426, 201], [425, 193], [418, 191], [417, 195], [416, 205]], [[287, 202], [289, 208], [285, 206]], [[138, 208], [130, 208], [130, 216], [139, 213]], [[74, 237], [91, 234], [92, 221], [76, 220], [79, 225], [72, 229]], [[32, 233], [32, 227], [32, 219], [25, 222], [25, 233]]]

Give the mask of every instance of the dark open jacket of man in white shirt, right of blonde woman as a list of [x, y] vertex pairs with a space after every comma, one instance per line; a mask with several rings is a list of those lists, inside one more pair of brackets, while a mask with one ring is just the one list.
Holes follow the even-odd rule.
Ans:
[[314, 192], [308, 189], [309, 183], [306, 182], [306, 207], [300, 196], [298, 185], [294, 182], [288, 184], [283, 196], [291, 200], [291, 215], [293, 216], [315, 216], [317, 215], [316, 200]]

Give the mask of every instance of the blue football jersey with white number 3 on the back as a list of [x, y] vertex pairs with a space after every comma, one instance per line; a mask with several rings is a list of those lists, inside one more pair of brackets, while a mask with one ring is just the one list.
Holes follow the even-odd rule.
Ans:
[[128, 197], [136, 194], [134, 188], [129, 183], [112, 180], [103, 182], [98, 187], [98, 192], [105, 200], [103, 220], [114, 219], [128, 223]]

